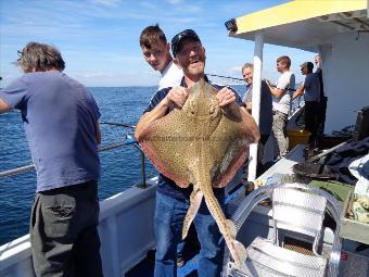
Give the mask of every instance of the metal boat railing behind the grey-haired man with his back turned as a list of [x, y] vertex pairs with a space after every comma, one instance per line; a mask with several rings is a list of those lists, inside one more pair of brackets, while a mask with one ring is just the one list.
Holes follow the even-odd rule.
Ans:
[[[136, 126], [133, 126], [133, 125], [115, 123], [115, 122], [101, 122], [100, 124], [119, 126], [119, 127], [124, 127], [124, 128], [130, 128], [132, 130], [136, 128]], [[106, 144], [106, 146], [103, 146], [103, 147], [99, 147], [99, 152], [105, 152], [105, 151], [109, 151], [109, 150], [113, 150], [113, 149], [117, 149], [117, 148], [122, 148], [122, 147], [127, 147], [127, 146], [133, 146], [140, 151], [141, 178], [142, 179], [141, 179], [141, 184], [139, 185], [139, 187], [140, 188], [147, 188], [148, 185], [147, 185], [144, 153], [142, 152], [141, 147], [139, 146], [139, 143], [137, 142], [137, 140], [135, 139], [132, 134], [126, 134], [125, 140], [123, 140], [123, 141], [118, 141], [118, 142], [110, 143], [110, 144]], [[31, 169], [35, 169], [35, 164], [33, 164], [33, 163], [27, 164], [27, 165], [23, 165], [23, 166], [18, 166], [18, 167], [15, 167], [15, 168], [2, 171], [2, 172], [0, 172], [0, 178], [9, 177], [9, 176], [12, 176], [12, 175], [17, 175], [17, 174], [23, 174], [23, 173], [26, 173], [26, 172], [31, 171]]]

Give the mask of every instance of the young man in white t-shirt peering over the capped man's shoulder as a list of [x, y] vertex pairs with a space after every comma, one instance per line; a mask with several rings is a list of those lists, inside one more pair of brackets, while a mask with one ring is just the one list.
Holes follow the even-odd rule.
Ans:
[[154, 71], [158, 71], [162, 75], [157, 90], [180, 85], [183, 72], [174, 64], [170, 46], [166, 40], [164, 32], [157, 24], [148, 26], [142, 30], [140, 47], [144, 60]]

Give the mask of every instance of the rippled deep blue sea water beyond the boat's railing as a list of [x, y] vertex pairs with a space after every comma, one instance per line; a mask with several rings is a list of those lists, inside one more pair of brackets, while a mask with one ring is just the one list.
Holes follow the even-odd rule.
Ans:
[[[244, 86], [233, 86], [243, 96]], [[89, 88], [101, 113], [101, 122], [136, 125], [156, 87]], [[102, 147], [125, 140], [130, 128], [101, 124]], [[100, 200], [141, 182], [140, 151], [125, 146], [100, 153]], [[0, 114], [0, 172], [31, 163], [20, 112]], [[147, 175], [157, 173], [147, 161]], [[35, 171], [0, 177], [0, 245], [28, 232], [36, 190]]]

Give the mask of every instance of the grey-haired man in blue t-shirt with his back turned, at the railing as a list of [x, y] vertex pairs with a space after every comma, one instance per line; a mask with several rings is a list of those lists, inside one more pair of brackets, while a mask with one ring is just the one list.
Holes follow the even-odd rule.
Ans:
[[0, 90], [0, 113], [21, 111], [37, 172], [29, 230], [36, 276], [102, 276], [99, 108], [62, 73], [54, 47], [29, 42], [20, 53], [25, 74]]

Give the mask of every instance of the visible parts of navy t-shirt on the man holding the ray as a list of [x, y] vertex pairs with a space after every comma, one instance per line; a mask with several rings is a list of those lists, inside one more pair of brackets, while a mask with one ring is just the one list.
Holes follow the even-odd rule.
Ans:
[[[216, 85], [216, 84], [209, 81], [206, 76], [205, 76], [204, 79], [218, 91], [225, 87], [225, 86]], [[184, 78], [182, 78], [180, 86], [187, 87]], [[149, 106], [144, 110], [143, 113], [151, 112], [166, 97], [166, 95], [169, 92], [170, 89], [171, 89], [171, 87], [158, 90], [153, 96], [153, 98], [150, 100]], [[237, 97], [237, 100], [236, 100], [237, 103], [242, 105], [241, 97], [236, 91], [234, 91], [234, 93], [236, 93], [236, 97]], [[167, 111], [167, 113], [169, 111]], [[157, 191], [161, 192], [161, 193], [177, 198], [177, 199], [189, 199], [189, 197], [192, 192], [192, 186], [189, 186], [188, 188], [184, 188], [184, 189], [180, 188], [176, 185], [176, 182], [174, 180], [169, 179], [168, 177], [166, 177], [163, 174], [160, 174], [158, 179], [157, 179]], [[215, 194], [225, 193], [224, 188], [214, 188], [213, 191], [214, 191]]]

